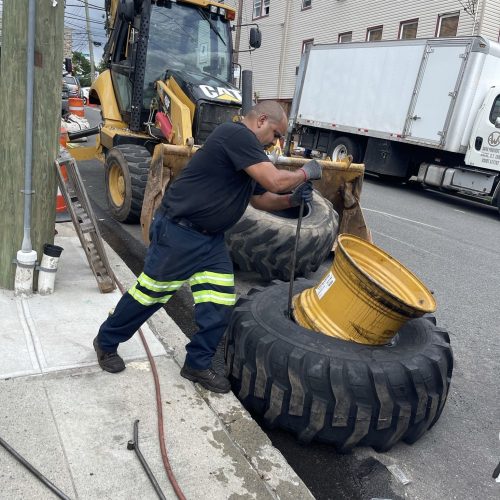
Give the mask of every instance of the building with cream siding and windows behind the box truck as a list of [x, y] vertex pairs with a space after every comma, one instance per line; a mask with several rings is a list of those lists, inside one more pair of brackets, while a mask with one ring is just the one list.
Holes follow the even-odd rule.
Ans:
[[[262, 46], [239, 55], [259, 100], [289, 103], [309, 44], [481, 35], [499, 40], [500, 0], [227, 0], [242, 24], [257, 23]], [[468, 7], [467, 10], [464, 7]], [[241, 31], [246, 49], [249, 27]], [[342, 71], [342, 68], [339, 68]], [[286, 106], [285, 106], [286, 107]]]

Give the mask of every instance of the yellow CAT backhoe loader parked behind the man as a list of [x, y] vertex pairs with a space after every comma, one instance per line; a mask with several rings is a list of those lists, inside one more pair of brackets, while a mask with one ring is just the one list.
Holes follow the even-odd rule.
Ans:
[[[147, 242], [169, 182], [217, 125], [241, 112], [242, 93], [231, 83], [236, 13], [210, 0], [106, 0], [105, 8], [108, 69], [89, 95], [103, 120], [97, 156], [112, 216], [141, 220]], [[260, 46], [258, 28], [251, 28], [249, 45]], [[294, 169], [304, 161], [281, 156], [276, 164]], [[367, 238], [359, 207], [363, 165], [323, 165], [316, 188], [339, 213], [340, 232]]]

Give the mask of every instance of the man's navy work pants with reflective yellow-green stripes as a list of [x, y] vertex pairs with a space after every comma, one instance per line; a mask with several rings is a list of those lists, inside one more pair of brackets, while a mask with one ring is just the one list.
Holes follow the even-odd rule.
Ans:
[[156, 215], [143, 273], [101, 325], [98, 342], [115, 352], [182, 286], [189, 282], [198, 332], [186, 346], [186, 363], [209, 368], [235, 303], [233, 265], [223, 234], [203, 234]]

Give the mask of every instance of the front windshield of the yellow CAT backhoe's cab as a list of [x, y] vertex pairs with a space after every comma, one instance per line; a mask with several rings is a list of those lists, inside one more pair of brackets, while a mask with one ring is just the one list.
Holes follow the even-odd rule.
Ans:
[[169, 69], [231, 78], [228, 21], [197, 6], [168, 2], [152, 5], [144, 77], [144, 107], [149, 108], [154, 82]]

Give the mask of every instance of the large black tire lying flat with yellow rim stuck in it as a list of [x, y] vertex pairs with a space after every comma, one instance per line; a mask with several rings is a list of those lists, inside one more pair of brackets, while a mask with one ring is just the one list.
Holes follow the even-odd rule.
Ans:
[[[295, 283], [295, 293], [314, 286]], [[286, 315], [288, 284], [242, 297], [226, 332], [234, 393], [269, 427], [347, 452], [414, 443], [439, 419], [450, 387], [448, 333], [433, 316], [408, 321], [390, 344], [347, 342]]]

